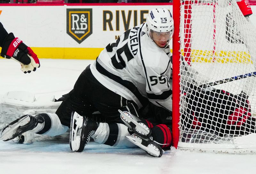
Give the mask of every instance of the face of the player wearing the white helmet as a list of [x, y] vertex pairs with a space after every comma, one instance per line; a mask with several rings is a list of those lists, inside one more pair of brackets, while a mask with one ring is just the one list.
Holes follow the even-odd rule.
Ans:
[[160, 48], [164, 48], [170, 39], [171, 32], [158, 33], [151, 31], [150, 34], [151, 38], [156, 43], [156, 45]]

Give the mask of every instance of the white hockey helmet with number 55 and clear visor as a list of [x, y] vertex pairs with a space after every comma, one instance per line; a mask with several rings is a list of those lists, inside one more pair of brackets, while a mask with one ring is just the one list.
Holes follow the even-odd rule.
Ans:
[[146, 24], [149, 38], [152, 41], [167, 41], [167, 44], [164, 47], [166, 48], [172, 39], [174, 29], [171, 12], [166, 8], [152, 9], [148, 13]]

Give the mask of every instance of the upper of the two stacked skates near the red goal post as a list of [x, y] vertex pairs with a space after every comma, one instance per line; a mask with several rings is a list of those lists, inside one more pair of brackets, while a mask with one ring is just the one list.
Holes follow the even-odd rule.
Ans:
[[132, 115], [129, 112], [118, 110], [121, 114], [121, 120], [124, 122], [124, 124], [131, 130], [133, 133], [136, 133], [137, 135], [148, 138], [151, 135], [151, 130], [149, 127], [143, 123], [139, 117]]

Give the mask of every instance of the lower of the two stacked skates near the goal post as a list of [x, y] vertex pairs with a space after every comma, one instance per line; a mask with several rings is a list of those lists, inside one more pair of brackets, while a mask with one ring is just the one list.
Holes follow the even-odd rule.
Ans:
[[141, 138], [136, 134], [132, 136], [126, 136], [129, 141], [133, 144], [139, 146], [146, 151], [147, 154], [154, 157], [161, 157], [164, 153], [164, 150], [157, 144], [155, 141], [152, 141], [150, 138]]

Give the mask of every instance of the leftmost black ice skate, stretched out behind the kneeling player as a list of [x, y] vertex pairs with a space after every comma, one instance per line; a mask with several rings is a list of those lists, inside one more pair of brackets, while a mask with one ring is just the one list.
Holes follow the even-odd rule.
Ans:
[[[41, 116], [40, 116], [41, 117]], [[43, 123], [44, 119], [32, 115], [23, 115], [22, 117], [14, 120], [3, 128], [0, 140], [9, 141], [18, 137], [26, 131], [34, 129], [38, 123]]]

